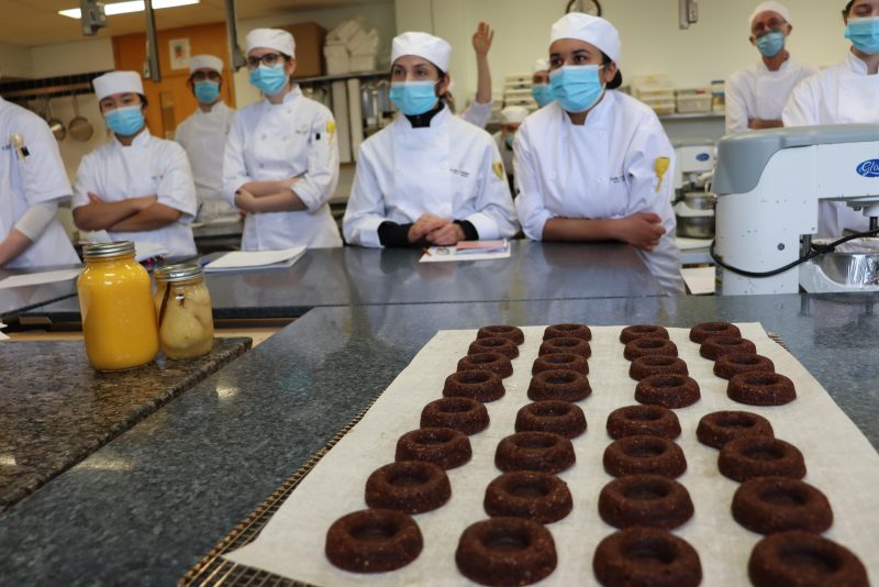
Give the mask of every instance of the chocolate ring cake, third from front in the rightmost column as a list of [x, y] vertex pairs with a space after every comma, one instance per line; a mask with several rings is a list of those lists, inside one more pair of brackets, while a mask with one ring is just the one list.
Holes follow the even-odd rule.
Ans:
[[721, 447], [720, 472], [736, 481], [754, 477], [805, 477], [805, 462], [799, 448], [771, 436], [741, 436]]

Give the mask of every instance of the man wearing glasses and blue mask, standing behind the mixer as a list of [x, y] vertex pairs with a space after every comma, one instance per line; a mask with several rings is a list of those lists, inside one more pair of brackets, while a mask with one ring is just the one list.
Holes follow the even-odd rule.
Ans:
[[791, 90], [817, 70], [794, 62], [786, 45], [793, 26], [781, 2], [760, 2], [748, 19], [748, 41], [760, 60], [726, 81], [726, 132], [781, 126], [781, 111]]

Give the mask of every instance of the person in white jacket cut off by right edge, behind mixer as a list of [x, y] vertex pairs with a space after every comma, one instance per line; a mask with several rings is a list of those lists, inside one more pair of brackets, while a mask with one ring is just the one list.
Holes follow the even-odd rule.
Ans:
[[[800, 84], [785, 107], [786, 126], [879, 124], [879, 0], [852, 0], [843, 11], [852, 48], [845, 60]], [[867, 218], [843, 202], [822, 201], [819, 237], [838, 237], [844, 229], [869, 228]]]

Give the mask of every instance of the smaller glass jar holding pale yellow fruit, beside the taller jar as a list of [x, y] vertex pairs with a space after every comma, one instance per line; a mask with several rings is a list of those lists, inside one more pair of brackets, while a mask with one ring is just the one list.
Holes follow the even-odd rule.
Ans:
[[168, 358], [201, 356], [213, 347], [211, 294], [198, 265], [179, 263], [153, 272], [158, 341]]

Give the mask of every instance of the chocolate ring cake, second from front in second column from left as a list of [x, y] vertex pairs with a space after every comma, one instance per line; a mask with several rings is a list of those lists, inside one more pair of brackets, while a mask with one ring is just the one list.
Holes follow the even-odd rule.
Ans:
[[548, 524], [570, 513], [574, 500], [568, 484], [555, 475], [511, 470], [488, 485], [482, 505], [492, 518], [512, 516]]

